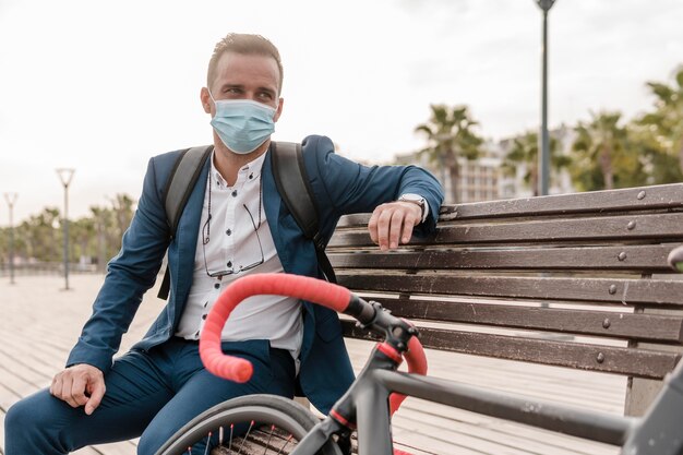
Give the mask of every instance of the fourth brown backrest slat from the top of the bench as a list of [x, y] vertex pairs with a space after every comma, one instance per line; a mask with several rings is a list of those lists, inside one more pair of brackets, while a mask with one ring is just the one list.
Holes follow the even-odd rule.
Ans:
[[352, 290], [422, 295], [458, 295], [622, 304], [683, 307], [683, 280], [457, 276], [446, 274], [355, 274], [337, 279]]

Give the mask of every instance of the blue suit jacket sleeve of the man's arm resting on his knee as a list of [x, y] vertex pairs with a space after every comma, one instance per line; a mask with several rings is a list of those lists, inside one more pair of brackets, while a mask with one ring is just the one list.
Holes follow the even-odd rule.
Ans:
[[105, 283], [93, 304], [93, 314], [67, 366], [88, 363], [107, 372], [144, 292], [156, 280], [168, 248], [169, 229], [154, 159], [147, 166], [142, 196], [123, 235], [121, 251], [108, 264]]

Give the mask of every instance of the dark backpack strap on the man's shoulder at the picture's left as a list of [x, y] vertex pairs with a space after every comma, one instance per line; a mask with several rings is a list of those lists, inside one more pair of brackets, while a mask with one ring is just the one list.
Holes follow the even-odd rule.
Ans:
[[[194, 190], [200, 173], [202, 173], [204, 164], [213, 149], [213, 145], [188, 148], [176, 159], [176, 164], [171, 170], [171, 175], [168, 177], [164, 191], [164, 207], [166, 208], [166, 220], [171, 239], [176, 237], [180, 216], [188, 204], [188, 199], [190, 199], [190, 194], [192, 194], [192, 190]], [[168, 299], [169, 290], [170, 273], [167, 266], [159, 294], [157, 295], [158, 298], [163, 300]]]

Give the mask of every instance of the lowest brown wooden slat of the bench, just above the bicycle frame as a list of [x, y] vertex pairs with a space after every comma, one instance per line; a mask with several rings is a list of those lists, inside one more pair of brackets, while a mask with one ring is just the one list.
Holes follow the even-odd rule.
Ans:
[[[344, 335], [374, 339], [374, 335], [343, 321]], [[552, 339], [525, 338], [472, 332], [419, 327], [420, 340], [427, 348], [486, 356], [498, 359], [530, 361], [558, 367], [636, 378], [662, 379], [680, 359], [674, 352], [613, 346], [587, 345]]]

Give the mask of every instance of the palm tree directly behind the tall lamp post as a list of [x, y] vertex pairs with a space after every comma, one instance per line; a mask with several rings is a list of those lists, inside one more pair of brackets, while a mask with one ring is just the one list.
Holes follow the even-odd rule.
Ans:
[[[570, 157], [559, 154], [559, 142], [555, 137], [550, 137], [550, 165], [552, 170], [560, 171], [570, 165]], [[510, 153], [503, 161], [503, 172], [514, 175], [519, 165], [526, 165], [524, 182], [532, 189], [534, 195], [538, 195], [538, 133], [527, 131], [525, 134], [512, 140]]]

